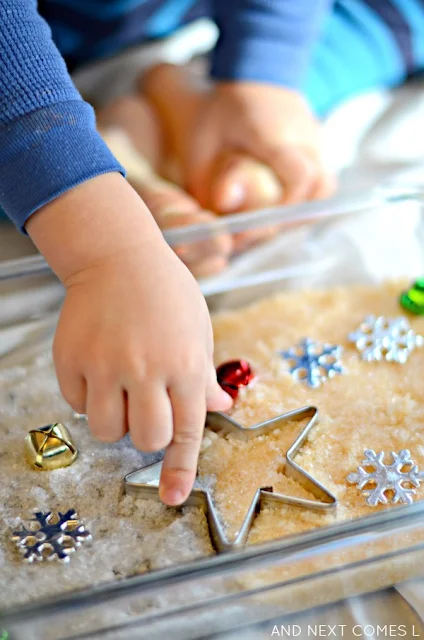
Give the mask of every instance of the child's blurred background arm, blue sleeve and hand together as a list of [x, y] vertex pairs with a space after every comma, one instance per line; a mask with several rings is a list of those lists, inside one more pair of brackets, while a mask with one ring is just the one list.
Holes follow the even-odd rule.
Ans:
[[247, 153], [271, 167], [283, 202], [329, 195], [320, 130], [302, 96], [313, 46], [332, 0], [214, 0], [220, 38], [212, 58], [216, 80], [194, 131], [186, 180], [209, 202], [216, 159]]

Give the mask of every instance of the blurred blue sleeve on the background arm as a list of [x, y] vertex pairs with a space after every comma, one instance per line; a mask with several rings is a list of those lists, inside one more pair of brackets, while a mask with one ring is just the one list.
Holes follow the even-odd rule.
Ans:
[[212, 75], [220, 80], [302, 86], [334, 0], [213, 0], [220, 38]]

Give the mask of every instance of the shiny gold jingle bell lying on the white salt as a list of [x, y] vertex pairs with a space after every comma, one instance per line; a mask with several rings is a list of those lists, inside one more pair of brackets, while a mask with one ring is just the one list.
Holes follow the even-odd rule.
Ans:
[[33, 429], [25, 438], [25, 453], [35, 469], [69, 467], [78, 455], [66, 427], [60, 422]]

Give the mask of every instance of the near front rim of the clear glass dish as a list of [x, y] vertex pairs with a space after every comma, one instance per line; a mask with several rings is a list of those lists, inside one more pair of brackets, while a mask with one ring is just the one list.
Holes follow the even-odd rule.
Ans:
[[[246, 563], [252, 566], [260, 564], [266, 559], [272, 559], [275, 556], [281, 559], [282, 553], [287, 556], [300, 552], [314, 553], [317, 548], [329, 543], [363, 537], [367, 533], [377, 534], [380, 530], [384, 531], [389, 524], [398, 525], [397, 529], [390, 529], [390, 533], [393, 534], [396, 531], [402, 530], [402, 528], [410, 527], [412, 521], [417, 522], [419, 520], [424, 523], [424, 500], [410, 505], [397, 506], [393, 510], [385, 509], [378, 513], [354, 518], [353, 520], [327, 525], [312, 531], [306, 531], [300, 535], [293, 534], [270, 542], [244, 547], [243, 549], [217, 553], [213, 556], [191, 560], [164, 569], [157, 569], [136, 576], [130, 576], [115, 582], [105, 582], [94, 587], [70, 591], [57, 597], [49, 597], [5, 610], [0, 609], [0, 621], [6, 625], [12, 624], [16, 620], [22, 623], [46, 614], [64, 613], [74, 607], [84, 609], [102, 604], [105, 596], [108, 597], [108, 599], [118, 598], [124, 596], [126, 593], [134, 594], [135, 591], [141, 593], [151, 587], [157, 589], [161, 586], [165, 587], [176, 584], [188, 578], [216, 577], [219, 573], [222, 575], [223, 571], [227, 573], [231, 571], [231, 569], [237, 569], [240, 566], [245, 568]], [[421, 543], [420, 547], [421, 546], [424, 546], [424, 543]], [[364, 562], [380, 560], [386, 555], [396, 557], [401, 554], [402, 551], [410, 552], [415, 550], [415, 547], [416, 545], [394, 551], [393, 553], [385, 553], [383, 556], [372, 556], [371, 558], [365, 558], [363, 561], [356, 561], [355, 564], [361, 566]], [[343, 571], [349, 567], [350, 564], [337, 565], [331, 567], [330, 573]], [[326, 570], [308, 574], [307, 577], [313, 577], [315, 579], [319, 578], [322, 574], [327, 575], [328, 572], [329, 569], [327, 568]], [[304, 577], [305, 576], [302, 575], [297, 578], [292, 578], [289, 582], [295, 584], [297, 581], [303, 580]], [[176, 611], [178, 611], [178, 609]], [[173, 611], [173, 613], [175, 613], [175, 611]]]

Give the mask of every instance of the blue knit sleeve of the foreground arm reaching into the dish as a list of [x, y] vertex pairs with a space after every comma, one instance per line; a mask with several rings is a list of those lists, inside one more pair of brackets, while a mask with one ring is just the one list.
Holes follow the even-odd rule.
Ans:
[[110, 171], [124, 173], [36, 0], [0, 0], [0, 207], [24, 229], [41, 206]]

